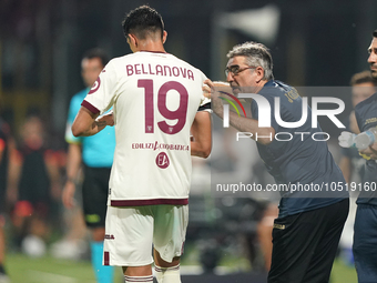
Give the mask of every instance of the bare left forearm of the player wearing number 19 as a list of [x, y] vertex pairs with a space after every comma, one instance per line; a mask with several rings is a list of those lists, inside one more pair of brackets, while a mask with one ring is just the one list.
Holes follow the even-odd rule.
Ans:
[[102, 131], [108, 122], [105, 120], [95, 121], [100, 113], [92, 113], [84, 107], [80, 108], [78, 115], [72, 124], [72, 133], [74, 137], [88, 137]]

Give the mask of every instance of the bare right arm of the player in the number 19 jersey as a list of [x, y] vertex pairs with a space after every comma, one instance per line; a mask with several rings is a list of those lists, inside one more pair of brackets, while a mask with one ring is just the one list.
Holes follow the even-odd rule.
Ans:
[[196, 113], [191, 133], [191, 155], [207, 158], [212, 150], [211, 114], [207, 111]]

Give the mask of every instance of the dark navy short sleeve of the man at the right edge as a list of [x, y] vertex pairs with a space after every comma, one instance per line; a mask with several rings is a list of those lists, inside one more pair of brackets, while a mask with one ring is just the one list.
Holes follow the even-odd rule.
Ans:
[[358, 103], [355, 108], [355, 114], [361, 132], [377, 127], [377, 93]]

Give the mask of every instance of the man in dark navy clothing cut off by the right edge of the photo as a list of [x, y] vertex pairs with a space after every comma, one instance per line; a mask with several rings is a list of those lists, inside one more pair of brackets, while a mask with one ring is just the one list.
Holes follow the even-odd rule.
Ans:
[[[377, 79], [377, 30], [368, 49], [371, 75]], [[377, 93], [358, 103], [355, 109], [360, 132], [377, 127]], [[356, 201], [354, 256], [359, 283], [377, 282], [377, 143], [361, 151], [367, 159], [365, 182]]]

